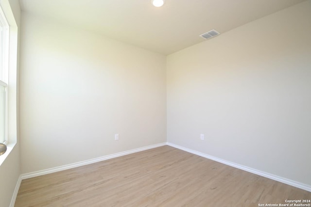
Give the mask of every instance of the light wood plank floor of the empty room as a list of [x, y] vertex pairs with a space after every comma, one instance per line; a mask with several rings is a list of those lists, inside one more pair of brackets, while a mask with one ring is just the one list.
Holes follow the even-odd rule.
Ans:
[[162, 146], [22, 181], [15, 207], [258, 207], [311, 192]]

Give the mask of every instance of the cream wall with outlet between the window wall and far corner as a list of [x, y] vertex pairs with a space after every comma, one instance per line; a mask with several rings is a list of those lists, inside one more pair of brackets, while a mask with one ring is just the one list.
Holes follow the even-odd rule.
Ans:
[[166, 141], [164, 55], [25, 13], [21, 42], [22, 173]]

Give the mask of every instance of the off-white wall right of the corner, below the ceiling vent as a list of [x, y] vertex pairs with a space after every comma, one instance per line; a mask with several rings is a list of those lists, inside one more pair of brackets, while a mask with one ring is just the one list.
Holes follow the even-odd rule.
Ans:
[[168, 142], [311, 185], [310, 89], [308, 0], [168, 56]]

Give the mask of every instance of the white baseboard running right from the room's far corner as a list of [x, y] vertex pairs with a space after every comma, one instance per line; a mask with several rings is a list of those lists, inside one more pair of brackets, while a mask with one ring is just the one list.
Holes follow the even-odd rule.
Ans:
[[287, 178], [284, 178], [284, 177], [280, 177], [280, 176], [273, 175], [273, 174], [270, 174], [270, 173], [266, 173], [266, 172], [263, 172], [263, 171], [260, 171], [260, 170], [256, 170], [256, 169], [253, 169], [253, 168], [250, 168], [250, 167], [246, 167], [246, 166], [234, 163], [234, 162], [227, 161], [225, 159], [216, 158], [216, 157], [213, 157], [213, 156], [210, 156], [210, 155], [207, 155], [207, 154], [204, 154], [204, 153], [201, 153], [201, 152], [198, 152], [198, 151], [195, 151], [195, 150], [183, 147], [183, 146], [179, 146], [177, 144], [167, 143], [167, 145], [175, 147], [177, 149], [181, 149], [181, 150], [186, 151], [186, 152], [190, 152], [192, 154], [201, 156], [203, 158], [211, 159], [211, 160], [214, 160], [214, 161], [217, 161], [217, 162], [229, 165], [231, 167], [235, 167], [235, 168], [238, 168], [238, 169], [241, 169], [241, 170], [244, 170], [244, 171], [256, 174], [256, 175], [267, 177], [267, 178], [270, 178], [272, 180], [276, 180], [278, 182], [285, 183], [285, 184], [288, 184], [288, 185], [291, 185], [291, 186], [294, 186], [294, 187], [297, 187], [297, 188], [300, 188], [300, 189], [303, 189], [303, 190], [311, 192], [311, 186], [310, 185], [306, 185], [306, 184], [303, 184], [303, 183], [300, 183], [300, 182], [297, 182], [297, 181], [294, 181], [294, 180], [290, 180], [290, 179], [287, 179]]

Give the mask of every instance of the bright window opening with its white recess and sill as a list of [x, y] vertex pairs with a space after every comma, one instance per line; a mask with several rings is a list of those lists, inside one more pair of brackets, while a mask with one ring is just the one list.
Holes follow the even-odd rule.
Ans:
[[0, 1], [0, 143], [7, 145], [1, 165], [17, 143], [17, 24], [9, 0]]

